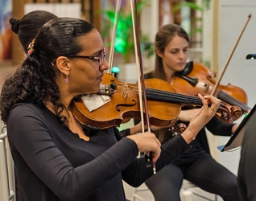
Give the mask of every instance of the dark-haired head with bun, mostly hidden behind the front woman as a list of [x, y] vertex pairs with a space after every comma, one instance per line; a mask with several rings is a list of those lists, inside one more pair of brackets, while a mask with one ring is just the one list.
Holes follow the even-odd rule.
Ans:
[[10, 18], [11, 30], [18, 35], [23, 49], [27, 52], [27, 47], [43, 24], [47, 23], [53, 18], [58, 18], [55, 14], [45, 10], [35, 10], [25, 14], [23, 18]]

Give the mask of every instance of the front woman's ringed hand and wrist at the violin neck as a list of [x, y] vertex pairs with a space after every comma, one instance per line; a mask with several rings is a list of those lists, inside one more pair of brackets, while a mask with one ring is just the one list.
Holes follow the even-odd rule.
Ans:
[[[185, 129], [181, 134], [188, 144], [195, 139], [196, 134], [200, 131], [200, 129], [203, 129], [204, 125], [207, 124], [211, 118], [213, 118], [221, 104], [221, 100], [217, 99], [217, 97], [202, 96], [200, 94], [198, 94], [198, 96], [200, 100], [202, 100], [203, 107], [194, 115], [194, 117], [192, 117], [188, 128]], [[209, 102], [212, 103], [210, 107], [208, 105]]]

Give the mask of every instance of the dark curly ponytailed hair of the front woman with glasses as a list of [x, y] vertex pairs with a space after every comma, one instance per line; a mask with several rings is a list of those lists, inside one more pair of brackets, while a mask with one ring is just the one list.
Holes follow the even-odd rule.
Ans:
[[61, 55], [77, 55], [83, 51], [80, 36], [93, 31], [92, 24], [78, 18], [55, 18], [44, 24], [35, 37], [34, 52], [22, 66], [6, 79], [0, 97], [2, 121], [6, 122], [10, 109], [20, 102], [43, 105], [50, 100], [56, 116], [65, 125], [65, 109], [59, 102], [60, 91], [56, 84], [58, 69], [52, 65]]

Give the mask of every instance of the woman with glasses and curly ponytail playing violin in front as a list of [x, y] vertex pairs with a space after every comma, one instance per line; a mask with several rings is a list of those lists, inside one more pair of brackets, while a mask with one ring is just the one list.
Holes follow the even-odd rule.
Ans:
[[89, 132], [70, 105], [76, 96], [98, 92], [109, 68], [99, 32], [81, 19], [55, 18], [43, 25], [27, 53], [6, 79], [0, 99], [19, 200], [126, 200], [122, 179], [138, 187], [153, 175], [145, 158], [136, 158], [138, 152], [152, 152], [161, 170], [191, 148], [220, 105], [213, 96], [199, 95], [203, 107], [188, 129], [163, 146], [154, 133], [122, 138], [115, 127]]

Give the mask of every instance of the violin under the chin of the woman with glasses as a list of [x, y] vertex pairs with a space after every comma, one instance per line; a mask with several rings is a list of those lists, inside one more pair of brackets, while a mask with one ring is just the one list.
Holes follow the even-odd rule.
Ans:
[[[101, 84], [103, 90], [101, 88], [98, 96], [104, 94], [105, 90], [105, 95], [109, 96], [111, 101], [89, 112], [83, 100], [75, 98], [72, 100], [71, 110], [77, 121], [91, 129], [106, 129], [119, 126], [129, 121], [130, 118], [141, 118], [138, 84], [122, 83], [110, 73], [104, 74]], [[171, 84], [164, 80], [147, 79], [145, 87], [149, 120], [151, 125], [157, 127], [164, 128], [173, 125], [183, 105], [203, 105], [199, 97], [176, 93]], [[225, 105], [221, 104], [217, 113], [222, 121], [228, 124], [233, 122], [229, 109]]]

